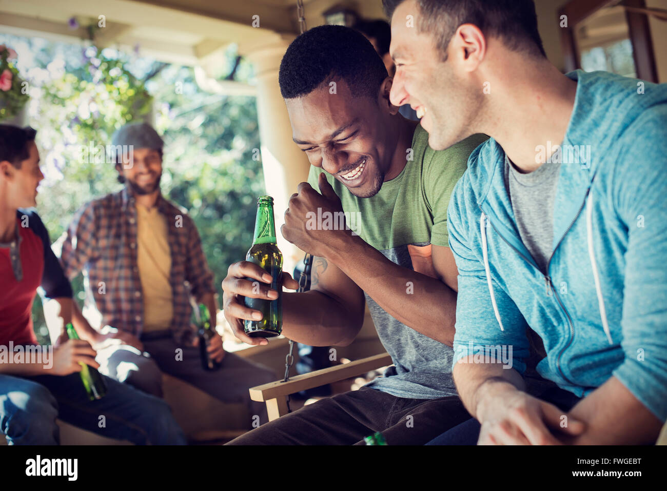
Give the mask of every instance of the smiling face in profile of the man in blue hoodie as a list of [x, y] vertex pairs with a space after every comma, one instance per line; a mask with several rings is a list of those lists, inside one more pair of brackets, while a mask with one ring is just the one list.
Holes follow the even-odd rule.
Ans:
[[[406, 21], [408, 15], [414, 22]], [[436, 35], [418, 32], [419, 16], [415, 0], [404, 1], [392, 15], [390, 53], [396, 74], [390, 99], [394, 105], [410, 104], [422, 118], [430, 146], [442, 150], [475, 132], [470, 127], [480, 110], [483, 86], [470, 71], [460, 37], [454, 34], [443, 61]]]

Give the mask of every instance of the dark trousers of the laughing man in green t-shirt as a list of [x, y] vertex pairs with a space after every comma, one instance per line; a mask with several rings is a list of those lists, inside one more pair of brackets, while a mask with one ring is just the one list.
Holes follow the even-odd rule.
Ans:
[[363, 445], [375, 432], [388, 445], [424, 445], [467, 418], [458, 396], [408, 399], [362, 387], [303, 406], [227, 445]]

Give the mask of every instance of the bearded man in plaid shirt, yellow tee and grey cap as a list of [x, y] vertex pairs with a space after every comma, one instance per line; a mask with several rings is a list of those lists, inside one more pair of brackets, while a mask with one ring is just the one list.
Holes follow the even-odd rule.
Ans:
[[208, 351], [221, 368], [201, 366], [189, 299], [215, 319], [213, 273], [194, 222], [160, 193], [161, 137], [146, 123], [132, 123], [116, 131], [112, 145], [125, 188], [84, 205], [60, 239], [65, 274], [83, 272], [87, 304], [104, 326], [91, 328], [75, 308], [75, 328], [93, 345], [104, 342], [97, 351], [103, 374], [161, 396], [165, 372], [223, 402], [246, 402], [265, 420], [248, 388], [275, 380], [273, 371], [225, 354], [220, 336]]

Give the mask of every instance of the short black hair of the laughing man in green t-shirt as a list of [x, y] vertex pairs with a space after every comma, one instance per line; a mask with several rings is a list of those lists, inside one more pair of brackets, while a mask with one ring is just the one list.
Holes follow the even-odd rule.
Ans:
[[350, 27], [320, 25], [291, 42], [278, 81], [284, 99], [302, 97], [333, 78], [346, 81], [354, 97], [376, 99], [388, 77], [373, 45]]

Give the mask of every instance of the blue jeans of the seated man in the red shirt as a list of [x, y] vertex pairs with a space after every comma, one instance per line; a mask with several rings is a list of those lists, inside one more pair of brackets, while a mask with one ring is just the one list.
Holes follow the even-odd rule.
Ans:
[[165, 402], [111, 378], [105, 377], [104, 382], [107, 394], [90, 401], [76, 373], [0, 374], [0, 431], [10, 445], [56, 445], [55, 418], [60, 418], [101, 436], [138, 445], [186, 443]]

